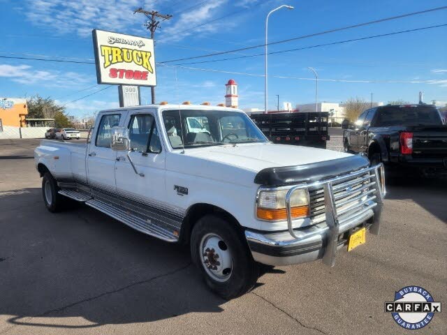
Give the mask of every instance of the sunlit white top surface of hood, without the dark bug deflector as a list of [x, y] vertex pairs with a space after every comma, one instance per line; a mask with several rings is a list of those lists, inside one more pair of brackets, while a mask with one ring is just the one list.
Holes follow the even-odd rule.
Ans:
[[339, 151], [287, 144], [240, 144], [186, 151], [188, 156], [259, 172], [266, 168], [306, 165], [352, 156]]

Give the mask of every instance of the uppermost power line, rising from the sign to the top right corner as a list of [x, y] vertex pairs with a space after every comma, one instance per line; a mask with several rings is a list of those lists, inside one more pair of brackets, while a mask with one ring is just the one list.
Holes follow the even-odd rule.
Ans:
[[[447, 9], [447, 6], [443, 6], [443, 7], [437, 7], [437, 8], [431, 8], [431, 9], [427, 9], [427, 10], [420, 10], [418, 12], [413, 12], [413, 13], [407, 13], [407, 14], [403, 14], [403, 15], [397, 15], [397, 16], [392, 16], [392, 17], [385, 17], [383, 19], [379, 19], [379, 20], [374, 20], [374, 21], [369, 21], [369, 22], [363, 22], [363, 23], [359, 23], [359, 24], [353, 24], [351, 26], [347, 26], [347, 27], [342, 27], [342, 28], [336, 28], [336, 29], [330, 29], [330, 30], [326, 30], [326, 31], [321, 31], [318, 33], [314, 33], [314, 34], [309, 34], [309, 35], [303, 35], [303, 36], [298, 36], [298, 37], [294, 37], [294, 38], [288, 38], [286, 40], [279, 40], [277, 42], [270, 42], [267, 45], [275, 45], [275, 44], [279, 44], [279, 43], [286, 43], [286, 42], [291, 42], [292, 40], [300, 40], [302, 38], [309, 38], [309, 37], [314, 37], [314, 36], [320, 36], [323, 34], [330, 34], [330, 33], [334, 33], [336, 31], [343, 31], [343, 30], [347, 30], [347, 29], [353, 29], [353, 28], [358, 28], [358, 27], [364, 27], [367, 26], [369, 24], [376, 24], [376, 23], [380, 23], [380, 22], [386, 22], [386, 21], [390, 21], [390, 20], [397, 20], [397, 19], [401, 19], [403, 17], [409, 17], [409, 16], [413, 16], [413, 15], [420, 15], [420, 14], [424, 14], [424, 13], [430, 13], [430, 12], [434, 12], [436, 10], [444, 10]], [[228, 16], [228, 15], [227, 15]], [[194, 27], [193, 27], [194, 28]], [[191, 28], [192, 29], [192, 28]], [[222, 51], [222, 52], [214, 52], [212, 54], [203, 54], [200, 56], [195, 56], [195, 57], [186, 57], [186, 58], [182, 58], [182, 59], [171, 59], [169, 61], [163, 61], [161, 63], [166, 64], [166, 63], [172, 63], [174, 61], [186, 61], [189, 59], [198, 59], [198, 58], [203, 58], [203, 57], [212, 57], [212, 56], [217, 56], [219, 54], [230, 54], [233, 52], [237, 52], [237, 51], [244, 51], [244, 50], [250, 50], [250, 49], [255, 49], [256, 47], [265, 47], [265, 44], [260, 44], [260, 45], [252, 45], [251, 47], [242, 47], [240, 49], [235, 49], [235, 50], [228, 50], [228, 51]]]

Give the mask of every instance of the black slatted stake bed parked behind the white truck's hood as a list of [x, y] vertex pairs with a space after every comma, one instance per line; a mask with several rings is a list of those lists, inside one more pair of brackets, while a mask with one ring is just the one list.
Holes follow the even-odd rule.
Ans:
[[328, 112], [247, 114], [274, 143], [325, 149], [329, 140]]

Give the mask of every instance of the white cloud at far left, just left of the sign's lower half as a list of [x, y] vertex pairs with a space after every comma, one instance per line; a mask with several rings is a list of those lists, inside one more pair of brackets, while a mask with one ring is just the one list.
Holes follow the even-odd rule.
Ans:
[[80, 87], [91, 78], [75, 72], [36, 70], [29, 65], [0, 64], [0, 77], [7, 77], [20, 84], [41, 84], [44, 87]]

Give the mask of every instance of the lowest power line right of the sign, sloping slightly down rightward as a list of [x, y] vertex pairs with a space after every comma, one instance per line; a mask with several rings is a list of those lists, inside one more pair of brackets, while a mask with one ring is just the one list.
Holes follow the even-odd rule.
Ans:
[[[184, 68], [186, 70], [199, 70], [205, 72], [214, 72], [214, 73], [228, 73], [232, 75], [249, 75], [251, 77], [264, 77], [264, 75], [258, 73], [244, 73], [244, 72], [235, 72], [235, 71], [226, 71], [226, 70], [213, 70], [211, 68], [191, 68], [189, 66], [177, 66], [177, 65], [163, 65], [170, 68]], [[271, 75], [270, 77], [276, 77], [281, 79], [294, 79], [294, 80], [312, 80], [315, 81], [315, 78], [308, 77], [290, 77], [285, 75]], [[388, 84], [434, 84], [436, 80], [347, 80], [347, 79], [321, 79], [318, 78], [318, 81], [322, 82], [363, 82], [363, 83], [388, 83]]]

